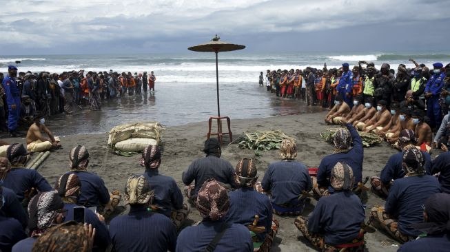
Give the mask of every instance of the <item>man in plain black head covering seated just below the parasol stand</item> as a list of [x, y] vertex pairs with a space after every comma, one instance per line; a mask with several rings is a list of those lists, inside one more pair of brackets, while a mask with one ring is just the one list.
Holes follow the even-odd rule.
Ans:
[[[227, 189], [236, 187], [233, 180], [233, 166], [227, 160], [221, 159], [221, 143], [219, 143], [217, 138], [207, 139], [203, 152], [205, 152], [206, 157], [194, 160], [187, 171], [183, 172], [182, 179], [186, 185], [184, 193], [190, 202], [195, 202], [198, 190], [209, 178], [214, 178], [214, 180], [221, 182]], [[195, 185], [190, 185], [194, 180]]]

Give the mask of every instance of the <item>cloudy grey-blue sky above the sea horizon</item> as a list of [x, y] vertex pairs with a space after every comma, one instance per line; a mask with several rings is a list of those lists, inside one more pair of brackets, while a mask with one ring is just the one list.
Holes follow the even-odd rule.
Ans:
[[0, 54], [447, 50], [450, 0], [0, 0]]

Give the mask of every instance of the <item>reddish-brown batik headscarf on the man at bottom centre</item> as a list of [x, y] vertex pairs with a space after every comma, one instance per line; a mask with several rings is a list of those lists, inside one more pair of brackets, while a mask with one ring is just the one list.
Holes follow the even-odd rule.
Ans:
[[227, 189], [214, 179], [205, 181], [198, 191], [196, 208], [203, 218], [220, 220], [229, 210]]

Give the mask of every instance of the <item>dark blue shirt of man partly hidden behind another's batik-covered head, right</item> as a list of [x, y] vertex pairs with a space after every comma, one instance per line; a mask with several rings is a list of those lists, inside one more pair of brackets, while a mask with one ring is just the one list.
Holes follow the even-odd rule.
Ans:
[[[422, 151], [422, 154], [425, 158], [425, 171], [427, 171], [428, 175], [431, 175], [431, 156], [427, 151]], [[380, 180], [383, 184], [389, 185], [391, 180], [396, 180], [398, 178], [405, 177], [405, 171], [402, 168], [403, 163], [403, 154], [402, 152], [398, 152], [393, 154], [385, 165], [385, 168], [382, 169], [380, 174]]]

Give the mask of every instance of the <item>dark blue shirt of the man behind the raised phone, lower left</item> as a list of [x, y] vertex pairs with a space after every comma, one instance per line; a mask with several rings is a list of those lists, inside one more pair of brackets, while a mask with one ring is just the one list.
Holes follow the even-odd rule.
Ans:
[[[64, 222], [74, 220], [74, 207], [77, 207], [77, 205], [70, 203], [64, 204], [64, 210], [68, 211]], [[96, 214], [90, 209], [85, 209], [84, 216], [85, 222], [92, 224], [92, 227], [95, 228], [94, 248], [92, 251], [105, 251], [111, 243], [110, 232], [106, 228], [105, 224], [103, 224], [103, 222], [101, 222]]]

